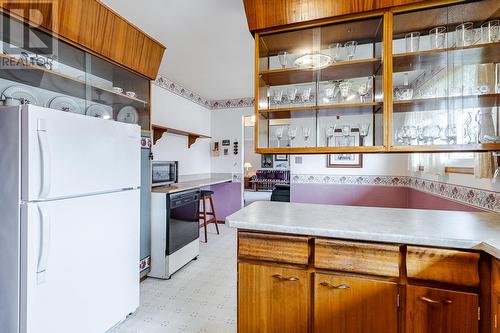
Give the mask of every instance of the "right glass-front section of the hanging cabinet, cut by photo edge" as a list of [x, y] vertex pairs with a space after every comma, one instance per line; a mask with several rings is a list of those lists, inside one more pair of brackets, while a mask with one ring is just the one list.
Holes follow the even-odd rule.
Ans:
[[500, 1], [393, 16], [392, 147], [500, 149]]

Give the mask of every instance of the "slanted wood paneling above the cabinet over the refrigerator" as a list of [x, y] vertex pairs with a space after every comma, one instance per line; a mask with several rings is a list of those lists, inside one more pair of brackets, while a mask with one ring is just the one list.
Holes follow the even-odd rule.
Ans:
[[[64, 40], [156, 79], [165, 47], [96, 0], [0, 0], [0, 7]], [[38, 15], [30, 16], [34, 10]], [[38, 22], [37, 22], [38, 21]]]

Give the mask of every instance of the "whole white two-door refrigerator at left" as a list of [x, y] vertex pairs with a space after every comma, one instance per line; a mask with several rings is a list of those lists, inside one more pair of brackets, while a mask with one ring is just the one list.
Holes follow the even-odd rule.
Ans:
[[139, 306], [140, 127], [0, 108], [0, 332], [103, 333]]

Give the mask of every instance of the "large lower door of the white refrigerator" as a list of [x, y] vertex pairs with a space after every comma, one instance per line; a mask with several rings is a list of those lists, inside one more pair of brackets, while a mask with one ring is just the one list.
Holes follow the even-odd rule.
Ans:
[[139, 196], [22, 206], [22, 333], [103, 333], [137, 309]]

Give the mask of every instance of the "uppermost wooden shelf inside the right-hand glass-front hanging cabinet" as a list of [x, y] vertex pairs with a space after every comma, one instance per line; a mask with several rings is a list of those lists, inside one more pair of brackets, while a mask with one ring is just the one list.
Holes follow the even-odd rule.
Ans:
[[392, 62], [394, 73], [500, 62], [500, 42], [395, 54]]

